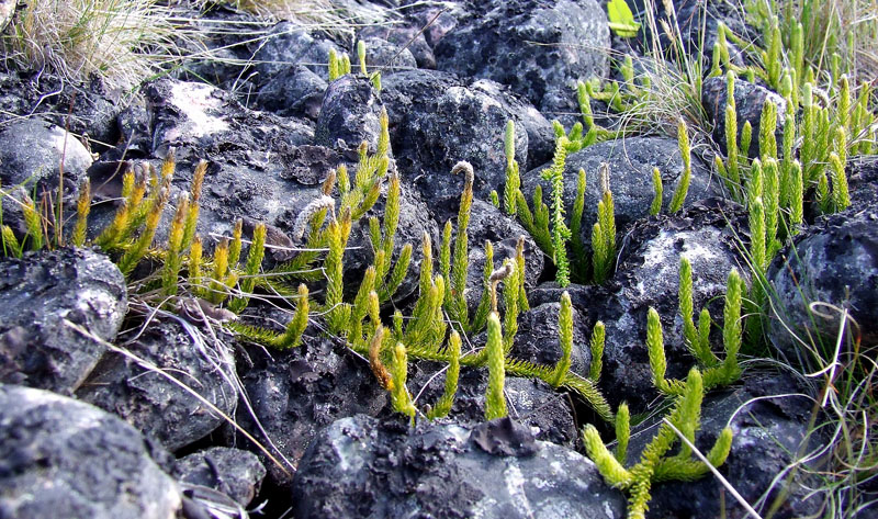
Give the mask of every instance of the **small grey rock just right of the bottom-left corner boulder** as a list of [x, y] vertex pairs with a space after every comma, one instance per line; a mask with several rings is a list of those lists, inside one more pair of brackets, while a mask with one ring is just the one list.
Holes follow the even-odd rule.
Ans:
[[173, 476], [184, 484], [222, 492], [247, 506], [259, 492], [266, 467], [252, 452], [211, 447], [179, 459]]

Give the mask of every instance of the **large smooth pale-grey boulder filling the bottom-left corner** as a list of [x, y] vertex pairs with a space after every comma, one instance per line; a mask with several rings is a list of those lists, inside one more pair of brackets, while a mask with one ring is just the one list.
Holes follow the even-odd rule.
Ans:
[[172, 519], [180, 489], [130, 425], [56, 394], [0, 384], [0, 516]]

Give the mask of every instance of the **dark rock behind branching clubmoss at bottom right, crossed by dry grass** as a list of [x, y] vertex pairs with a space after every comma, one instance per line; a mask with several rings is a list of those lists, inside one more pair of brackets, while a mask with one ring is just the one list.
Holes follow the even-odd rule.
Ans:
[[[708, 452], [720, 431], [732, 428], [732, 450], [720, 473], [756, 511], [765, 514], [777, 499], [773, 517], [792, 519], [820, 515], [823, 479], [820, 462], [812, 460], [790, 470], [783, 483], [775, 481], [801, 456], [825, 447], [826, 435], [810, 430], [813, 391], [789, 373], [745, 373], [742, 384], [708, 394], [701, 406], [701, 430], [695, 443]], [[820, 419], [820, 418], [818, 418]], [[628, 462], [635, 463], [653, 438], [653, 420], [634, 428]], [[817, 464], [815, 464], [817, 463]], [[716, 477], [695, 482], [672, 481], [654, 484], [650, 494], [650, 516], [661, 518], [752, 517], [731, 498]], [[721, 495], [725, 495], [724, 507]], [[724, 509], [723, 509], [724, 508]]]

